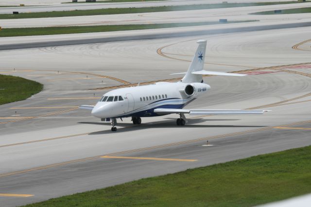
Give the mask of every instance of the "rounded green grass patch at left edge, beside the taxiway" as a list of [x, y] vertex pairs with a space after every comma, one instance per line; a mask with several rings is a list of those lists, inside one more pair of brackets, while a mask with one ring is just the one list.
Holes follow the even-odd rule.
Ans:
[[40, 92], [43, 85], [25, 78], [0, 75], [0, 104], [25, 100]]

